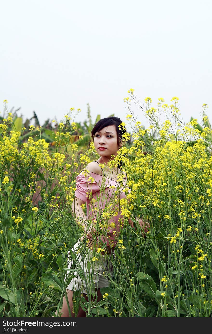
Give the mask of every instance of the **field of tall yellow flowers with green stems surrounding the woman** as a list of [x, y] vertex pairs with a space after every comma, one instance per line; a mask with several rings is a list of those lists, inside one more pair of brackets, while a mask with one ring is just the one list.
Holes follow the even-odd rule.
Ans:
[[[89, 294], [89, 301], [81, 303], [88, 317], [211, 317], [212, 130], [207, 106], [202, 127], [193, 119], [184, 125], [177, 97], [171, 105], [158, 99], [157, 108], [146, 98], [144, 108], [133, 89], [128, 93], [126, 119], [132, 133], [111, 164], [122, 162], [130, 199], [130, 204], [121, 202], [126, 221], [114, 276], [110, 287], [101, 289], [100, 302], [92, 302]], [[132, 103], [149, 119], [148, 129], [135, 121]], [[161, 112], [169, 115], [162, 124]], [[54, 145], [44, 139], [41, 127], [31, 126], [23, 139], [26, 129], [15, 129], [11, 113], [1, 121], [1, 317], [51, 317], [62, 305], [67, 252], [81, 235], [71, 212], [75, 178], [98, 158], [92, 141], [86, 147], [80, 144], [83, 136], [76, 140], [77, 124], [69, 121], [67, 116], [53, 131]], [[110, 208], [104, 211], [110, 217]], [[150, 223], [145, 237], [139, 226], [128, 224], [129, 217], [138, 216]], [[80, 293], [74, 297], [77, 309]]]

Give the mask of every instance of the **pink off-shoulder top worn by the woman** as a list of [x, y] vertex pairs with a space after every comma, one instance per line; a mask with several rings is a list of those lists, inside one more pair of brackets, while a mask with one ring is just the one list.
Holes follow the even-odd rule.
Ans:
[[86, 202], [86, 218], [96, 224], [101, 247], [115, 247], [123, 228], [120, 199], [126, 198], [126, 178], [115, 181], [104, 175], [82, 171], [76, 177], [75, 197]]

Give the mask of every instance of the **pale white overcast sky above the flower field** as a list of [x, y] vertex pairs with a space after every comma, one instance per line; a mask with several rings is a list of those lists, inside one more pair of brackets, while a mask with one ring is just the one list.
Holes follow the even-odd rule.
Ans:
[[71, 107], [83, 122], [89, 103], [93, 122], [113, 113], [126, 122], [133, 88], [152, 107], [179, 97], [184, 122], [201, 123], [206, 103], [212, 123], [212, 1], [7, 0], [0, 12], [1, 115], [7, 99], [41, 125]]

